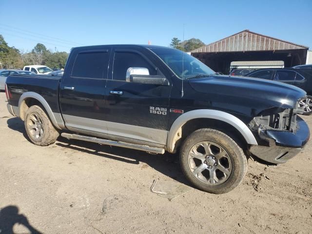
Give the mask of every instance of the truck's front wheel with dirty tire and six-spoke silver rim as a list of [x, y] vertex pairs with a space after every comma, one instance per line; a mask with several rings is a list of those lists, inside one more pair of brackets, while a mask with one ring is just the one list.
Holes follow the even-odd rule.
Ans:
[[240, 184], [247, 172], [243, 150], [228, 135], [199, 129], [185, 139], [180, 150], [184, 175], [198, 189], [223, 194]]

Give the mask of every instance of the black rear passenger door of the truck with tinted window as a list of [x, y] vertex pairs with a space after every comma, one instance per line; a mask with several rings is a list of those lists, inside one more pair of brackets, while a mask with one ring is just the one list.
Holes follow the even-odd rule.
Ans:
[[72, 52], [60, 84], [65, 125], [77, 132], [106, 133], [105, 84], [111, 47]]

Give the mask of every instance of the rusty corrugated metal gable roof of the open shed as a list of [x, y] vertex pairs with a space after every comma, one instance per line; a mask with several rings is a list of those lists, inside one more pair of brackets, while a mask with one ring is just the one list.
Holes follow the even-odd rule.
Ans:
[[309, 49], [307, 46], [298, 45], [289, 41], [276, 39], [258, 33], [244, 30], [230, 37], [215, 41], [191, 53], [209, 52], [235, 52], [235, 51], [273, 51]]

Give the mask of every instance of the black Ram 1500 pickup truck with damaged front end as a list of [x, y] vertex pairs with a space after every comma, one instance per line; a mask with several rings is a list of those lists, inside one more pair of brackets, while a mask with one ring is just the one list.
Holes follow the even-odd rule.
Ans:
[[61, 135], [151, 154], [179, 151], [185, 176], [210, 193], [234, 189], [247, 158], [285, 163], [310, 138], [297, 115], [302, 89], [218, 75], [167, 47], [73, 48], [62, 78], [13, 75], [5, 90], [9, 112], [34, 144]]

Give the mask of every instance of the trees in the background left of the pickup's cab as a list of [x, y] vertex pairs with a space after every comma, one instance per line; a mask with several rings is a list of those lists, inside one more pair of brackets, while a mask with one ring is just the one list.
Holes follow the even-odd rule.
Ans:
[[0, 69], [22, 69], [26, 65], [45, 65], [52, 69], [64, 68], [68, 54], [52, 52], [44, 44], [38, 43], [30, 52], [8, 46], [0, 35]]

